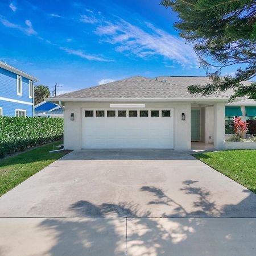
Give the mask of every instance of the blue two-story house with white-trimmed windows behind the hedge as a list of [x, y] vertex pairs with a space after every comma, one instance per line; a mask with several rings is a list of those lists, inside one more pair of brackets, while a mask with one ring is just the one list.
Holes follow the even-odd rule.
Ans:
[[34, 117], [35, 77], [0, 61], [0, 116]]

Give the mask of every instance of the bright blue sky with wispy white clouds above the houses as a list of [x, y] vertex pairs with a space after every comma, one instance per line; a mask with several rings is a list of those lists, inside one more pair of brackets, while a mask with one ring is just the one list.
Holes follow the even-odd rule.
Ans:
[[0, 60], [51, 90], [57, 82], [59, 93], [135, 75], [205, 75], [159, 2], [2, 0]]

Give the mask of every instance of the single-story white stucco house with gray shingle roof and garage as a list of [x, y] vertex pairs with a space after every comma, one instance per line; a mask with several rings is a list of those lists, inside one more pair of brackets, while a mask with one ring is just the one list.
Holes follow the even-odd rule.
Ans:
[[[208, 77], [154, 80], [135, 76], [46, 101], [64, 109], [66, 149], [189, 150], [192, 141], [213, 143], [214, 148], [223, 149], [228, 93], [192, 96], [187, 90], [188, 85], [207, 80]], [[247, 101], [256, 106], [255, 101]], [[237, 107], [236, 102], [233, 104]]]

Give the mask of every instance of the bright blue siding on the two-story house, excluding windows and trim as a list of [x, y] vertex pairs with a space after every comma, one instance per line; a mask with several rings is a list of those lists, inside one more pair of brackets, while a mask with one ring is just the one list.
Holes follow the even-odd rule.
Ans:
[[[0, 68], [0, 97], [33, 103], [29, 97], [29, 80], [22, 77], [22, 95], [17, 95], [17, 75], [6, 69]], [[27, 117], [33, 116], [33, 105], [0, 100], [3, 115], [15, 116], [15, 109], [27, 110]]]

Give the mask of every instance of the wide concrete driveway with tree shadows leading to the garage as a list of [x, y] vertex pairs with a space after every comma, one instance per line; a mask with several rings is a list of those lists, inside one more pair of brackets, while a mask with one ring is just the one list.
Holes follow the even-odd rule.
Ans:
[[186, 151], [73, 151], [0, 217], [0, 255], [255, 254], [256, 195]]

